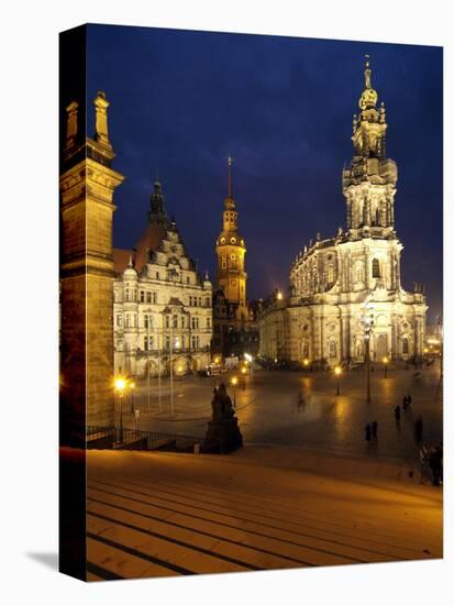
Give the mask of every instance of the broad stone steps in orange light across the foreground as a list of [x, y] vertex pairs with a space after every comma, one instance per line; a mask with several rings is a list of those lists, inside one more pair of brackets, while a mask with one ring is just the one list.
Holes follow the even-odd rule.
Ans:
[[87, 460], [90, 581], [442, 557], [442, 491], [401, 464], [276, 446]]

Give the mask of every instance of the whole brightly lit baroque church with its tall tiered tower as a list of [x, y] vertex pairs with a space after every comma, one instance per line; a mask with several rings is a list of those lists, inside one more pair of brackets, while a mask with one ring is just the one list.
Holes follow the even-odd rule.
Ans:
[[[353, 157], [342, 175], [346, 229], [315, 241], [290, 267], [287, 297], [259, 317], [259, 352], [294, 363], [419, 359], [424, 346], [423, 288], [402, 288], [402, 244], [395, 224], [397, 165], [386, 153], [385, 103], [377, 107], [366, 57], [365, 88], [353, 118]], [[367, 343], [366, 343], [367, 339]]]

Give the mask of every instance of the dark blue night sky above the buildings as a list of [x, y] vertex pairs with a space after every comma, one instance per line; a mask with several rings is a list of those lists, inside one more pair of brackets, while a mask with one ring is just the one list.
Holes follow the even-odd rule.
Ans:
[[101, 89], [111, 101], [114, 166], [126, 177], [115, 194], [114, 245], [134, 245], [146, 227], [158, 167], [167, 210], [213, 278], [230, 153], [250, 298], [285, 288], [309, 239], [345, 224], [341, 173], [368, 53], [399, 169], [402, 284], [425, 283], [429, 319], [440, 315], [440, 47], [109, 25], [90, 25], [87, 37], [88, 99]]

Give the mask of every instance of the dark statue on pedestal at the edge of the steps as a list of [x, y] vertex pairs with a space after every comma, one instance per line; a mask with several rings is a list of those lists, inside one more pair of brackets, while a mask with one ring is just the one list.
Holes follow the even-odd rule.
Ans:
[[212, 418], [202, 443], [202, 452], [229, 453], [243, 446], [239, 421], [225, 385], [214, 388], [211, 400]]

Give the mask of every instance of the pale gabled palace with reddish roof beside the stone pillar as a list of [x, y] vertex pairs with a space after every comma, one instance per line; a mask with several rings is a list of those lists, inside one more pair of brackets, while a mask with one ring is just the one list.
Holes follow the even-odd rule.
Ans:
[[158, 179], [135, 249], [113, 250], [114, 370], [132, 376], [196, 372], [210, 363], [212, 286], [169, 220]]

